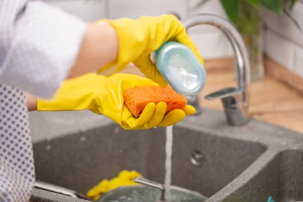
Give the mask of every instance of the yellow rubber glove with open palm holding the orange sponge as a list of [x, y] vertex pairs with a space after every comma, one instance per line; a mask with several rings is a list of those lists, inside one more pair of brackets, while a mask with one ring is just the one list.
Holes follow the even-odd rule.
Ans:
[[166, 127], [192, 115], [195, 109], [173, 110], [165, 115], [166, 103], [148, 103], [140, 117], [135, 118], [124, 105], [123, 91], [134, 86], [158, 85], [154, 81], [132, 74], [113, 74], [109, 77], [92, 73], [65, 81], [52, 100], [37, 99], [38, 111], [75, 111], [88, 109], [105, 115], [124, 129]]

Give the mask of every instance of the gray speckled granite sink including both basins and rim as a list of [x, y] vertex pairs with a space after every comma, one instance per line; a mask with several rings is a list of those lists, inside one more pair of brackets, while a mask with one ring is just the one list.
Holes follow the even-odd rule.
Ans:
[[[41, 128], [39, 116], [30, 115], [38, 180], [86, 193], [126, 169], [163, 183], [165, 128], [126, 131], [102, 117], [89, 128], [46, 138], [55, 125]], [[222, 112], [210, 109], [173, 131], [173, 185], [197, 191], [208, 202], [303, 200], [303, 134], [254, 119], [232, 127]], [[31, 201], [84, 200], [35, 189]]]

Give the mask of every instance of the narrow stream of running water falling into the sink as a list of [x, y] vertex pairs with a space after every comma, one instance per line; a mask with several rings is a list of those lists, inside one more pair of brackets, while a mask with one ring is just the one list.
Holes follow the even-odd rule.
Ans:
[[171, 175], [172, 175], [172, 150], [173, 150], [173, 126], [166, 127], [166, 144], [165, 144], [165, 180], [164, 180], [164, 200], [170, 201], [171, 198]]

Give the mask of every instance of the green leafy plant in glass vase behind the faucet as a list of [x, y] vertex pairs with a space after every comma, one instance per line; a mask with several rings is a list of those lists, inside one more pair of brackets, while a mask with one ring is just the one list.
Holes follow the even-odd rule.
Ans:
[[[194, 9], [211, 0], [201, 0]], [[229, 20], [241, 33], [249, 53], [251, 80], [264, 77], [263, 63], [263, 24], [262, 9], [267, 9], [278, 16], [288, 16], [300, 29], [298, 23], [290, 15], [289, 10], [297, 0], [220, 0]], [[234, 74], [236, 75], [236, 74]]]

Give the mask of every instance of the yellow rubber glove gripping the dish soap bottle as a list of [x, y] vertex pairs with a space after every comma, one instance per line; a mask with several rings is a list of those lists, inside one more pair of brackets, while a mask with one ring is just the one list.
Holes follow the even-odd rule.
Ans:
[[188, 46], [204, 65], [198, 49], [187, 35], [182, 23], [174, 15], [142, 16], [137, 20], [128, 18], [99, 20], [96, 23], [104, 22], [110, 23], [117, 31], [119, 54], [116, 61], [101, 68], [97, 72], [98, 74], [102, 74], [113, 66], [115, 66], [116, 72], [120, 72], [133, 62], [147, 78], [157, 82], [161, 87], [166, 87], [167, 82], [150, 61], [150, 53], [156, 51], [169, 40], [178, 41]]

